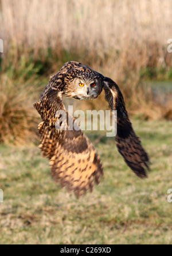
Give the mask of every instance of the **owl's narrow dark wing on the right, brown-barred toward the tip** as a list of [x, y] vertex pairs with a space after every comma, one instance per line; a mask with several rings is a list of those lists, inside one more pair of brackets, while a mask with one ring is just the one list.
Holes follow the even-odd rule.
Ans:
[[105, 77], [104, 80], [104, 92], [105, 100], [108, 101], [111, 110], [117, 110], [117, 134], [115, 141], [118, 151], [139, 178], [146, 178], [146, 169], [149, 170], [148, 155], [132, 129], [122, 92], [120, 92], [118, 85], [108, 77]]

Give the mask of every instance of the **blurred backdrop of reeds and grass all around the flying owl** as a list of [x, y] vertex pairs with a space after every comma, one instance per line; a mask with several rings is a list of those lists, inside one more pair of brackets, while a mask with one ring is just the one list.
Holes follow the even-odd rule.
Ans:
[[[172, 243], [171, 17], [171, 0], [0, 0], [0, 243]], [[87, 135], [101, 138], [101, 184], [79, 200], [53, 184], [37, 147], [33, 102], [67, 61], [120, 86], [150, 155], [146, 181], [98, 131]], [[72, 103], [108, 109], [103, 94]]]

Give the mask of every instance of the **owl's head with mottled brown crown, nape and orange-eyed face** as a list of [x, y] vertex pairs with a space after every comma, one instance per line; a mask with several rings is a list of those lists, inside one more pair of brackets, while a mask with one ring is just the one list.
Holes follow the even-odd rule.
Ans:
[[95, 70], [79, 62], [69, 61], [50, 78], [42, 95], [48, 93], [49, 89], [54, 89], [78, 100], [95, 99], [103, 89], [104, 79]]

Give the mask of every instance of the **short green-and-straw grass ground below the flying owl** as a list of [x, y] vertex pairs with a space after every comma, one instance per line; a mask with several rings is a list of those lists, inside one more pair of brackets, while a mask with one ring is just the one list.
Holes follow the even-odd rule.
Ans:
[[[172, 244], [171, 122], [135, 121], [151, 158], [148, 179], [138, 179], [103, 137], [96, 145], [104, 179], [76, 199], [53, 183], [37, 146], [0, 146], [1, 244]], [[88, 134], [95, 141], [97, 134]]]

